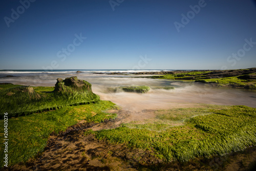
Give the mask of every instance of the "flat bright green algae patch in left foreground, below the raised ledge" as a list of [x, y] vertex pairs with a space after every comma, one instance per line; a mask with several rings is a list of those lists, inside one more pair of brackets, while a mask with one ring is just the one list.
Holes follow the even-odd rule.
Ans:
[[[37, 88], [37, 90], [47, 88]], [[69, 126], [83, 121], [99, 123], [114, 119], [117, 115], [104, 111], [117, 109], [111, 101], [98, 101], [94, 104], [65, 106], [55, 111], [33, 113], [27, 116], [8, 119], [8, 165], [25, 162], [44, 150], [49, 135], [65, 131]], [[9, 115], [9, 113], [8, 113]], [[4, 125], [4, 120], [0, 120]], [[4, 137], [4, 129], [0, 130]], [[0, 145], [0, 162], [3, 166], [4, 145]]]

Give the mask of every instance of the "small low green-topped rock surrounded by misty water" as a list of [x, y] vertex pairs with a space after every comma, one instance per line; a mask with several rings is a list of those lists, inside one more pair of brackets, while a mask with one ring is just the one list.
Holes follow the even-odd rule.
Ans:
[[124, 91], [124, 92], [136, 92], [136, 93], [146, 93], [147, 91], [150, 90], [150, 87], [147, 86], [120, 86], [116, 88], [109, 88], [109, 91], [113, 92], [119, 92], [119, 91]]

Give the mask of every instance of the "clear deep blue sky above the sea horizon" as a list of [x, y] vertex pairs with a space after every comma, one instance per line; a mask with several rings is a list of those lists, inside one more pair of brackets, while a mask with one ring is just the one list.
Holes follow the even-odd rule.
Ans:
[[[256, 67], [254, 1], [21, 2], [1, 1], [0, 69]], [[86, 39], [80, 42], [75, 34]]]

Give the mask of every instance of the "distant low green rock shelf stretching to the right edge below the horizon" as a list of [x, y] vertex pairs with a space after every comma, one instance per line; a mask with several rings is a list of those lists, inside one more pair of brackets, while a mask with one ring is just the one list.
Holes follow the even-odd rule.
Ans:
[[[94, 73], [97, 74], [97, 73]], [[256, 89], [256, 68], [238, 70], [192, 70], [160, 72], [112, 72], [108, 75], [154, 75], [140, 78], [190, 80], [211, 84], [213, 87], [231, 87], [238, 89]], [[138, 78], [138, 77], [137, 77]]]

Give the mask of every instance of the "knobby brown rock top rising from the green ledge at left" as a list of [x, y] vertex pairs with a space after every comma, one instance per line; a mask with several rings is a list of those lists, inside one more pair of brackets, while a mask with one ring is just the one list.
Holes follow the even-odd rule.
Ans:
[[78, 79], [75, 77], [69, 77], [65, 80], [58, 78], [55, 84], [54, 92], [66, 92], [66, 91], [89, 91], [92, 92], [92, 84]]

